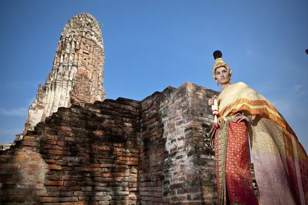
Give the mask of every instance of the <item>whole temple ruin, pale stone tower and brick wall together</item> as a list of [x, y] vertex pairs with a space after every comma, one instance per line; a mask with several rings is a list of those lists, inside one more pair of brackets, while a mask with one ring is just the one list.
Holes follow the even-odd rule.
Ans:
[[105, 99], [103, 66], [97, 21], [74, 16], [24, 134], [0, 151], [0, 203], [217, 204], [207, 100], [218, 92], [185, 83]]

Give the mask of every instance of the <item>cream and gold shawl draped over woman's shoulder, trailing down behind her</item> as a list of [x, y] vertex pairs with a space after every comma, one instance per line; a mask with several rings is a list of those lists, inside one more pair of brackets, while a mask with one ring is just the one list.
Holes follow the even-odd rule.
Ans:
[[218, 99], [221, 117], [259, 115], [249, 127], [259, 204], [308, 204], [308, 157], [283, 116], [244, 83], [229, 86]]

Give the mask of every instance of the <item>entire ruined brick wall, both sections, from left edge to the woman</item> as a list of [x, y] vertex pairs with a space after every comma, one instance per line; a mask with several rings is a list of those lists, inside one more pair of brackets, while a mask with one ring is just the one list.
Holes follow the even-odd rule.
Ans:
[[215, 204], [214, 94], [185, 83], [59, 108], [0, 151], [1, 204]]

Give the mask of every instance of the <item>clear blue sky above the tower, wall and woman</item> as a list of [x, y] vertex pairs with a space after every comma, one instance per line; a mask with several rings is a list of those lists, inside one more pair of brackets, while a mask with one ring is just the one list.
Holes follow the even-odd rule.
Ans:
[[62, 29], [87, 12], [104, 27], [107, 98], [142, 100], [186, 81], [220, 90], [214, 50], [286, 118], [304, 148], [308, 116], [307, 1], [1, 1], [0, 144], [22, 132]]

